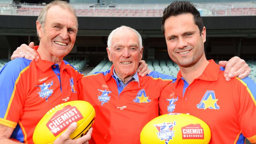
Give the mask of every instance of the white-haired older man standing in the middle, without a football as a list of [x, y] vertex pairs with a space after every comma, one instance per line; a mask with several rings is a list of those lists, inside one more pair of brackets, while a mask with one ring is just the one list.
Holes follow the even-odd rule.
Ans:
[[158, 116], [161, 90], [172, 76], [150, 72], [137, 74], [142, 59], [141, 35], [128, 26], [113, 30], [108, 37], [111, 70], [85, 76], [79, 81], [79, 99], [93, 105], [96, 111], [90, 144], [138, 144], [140, 131]]

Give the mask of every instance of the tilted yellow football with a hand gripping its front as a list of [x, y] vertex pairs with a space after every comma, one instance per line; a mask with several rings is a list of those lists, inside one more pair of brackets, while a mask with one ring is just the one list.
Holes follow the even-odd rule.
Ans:
[[33, 133], [33, 142], [53, 143], [73, 122], [77, 122], [77, 127], [70, 138], [82, 137], [92, 127], [94, 119], [95, 110], [88, 102], [71, 101], [59, 104], [50, 109], [39, 121]]

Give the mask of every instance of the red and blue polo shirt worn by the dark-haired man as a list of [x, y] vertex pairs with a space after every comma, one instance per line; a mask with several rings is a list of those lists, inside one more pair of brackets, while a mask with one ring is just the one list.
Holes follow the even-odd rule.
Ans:
[[188, 85], [177, 79], [161, 92], [160, 112], [189, 113], [211, 129], [210, 144], [256, 142], [256, 85], [249, 77], [226, 81], [213, 60], [201, 76]]

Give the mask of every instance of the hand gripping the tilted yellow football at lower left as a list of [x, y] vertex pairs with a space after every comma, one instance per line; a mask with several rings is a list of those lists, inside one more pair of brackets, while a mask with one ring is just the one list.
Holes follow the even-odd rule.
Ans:
[[73, 122], [55, 141], [54, 144], [89, 144], [88, 140], [91, 139], [93, 128], [90, 128], [86, 135], [77, 139], [70, 139], [70, 134], [76, 129], [77, 123]]

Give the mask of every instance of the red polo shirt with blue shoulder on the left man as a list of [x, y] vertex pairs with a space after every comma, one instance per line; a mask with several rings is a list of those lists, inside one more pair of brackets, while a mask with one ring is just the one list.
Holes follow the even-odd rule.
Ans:
[[15, 128], [11, 138], [33, 143], [35, 126], [52, 107], [78, 100], [82, 78], [66, 61], [61, 66], [39, 59], [14, 59], [0, 71], [0, 124]]

